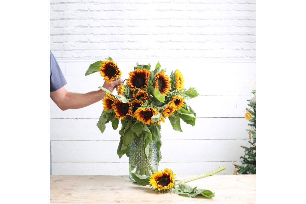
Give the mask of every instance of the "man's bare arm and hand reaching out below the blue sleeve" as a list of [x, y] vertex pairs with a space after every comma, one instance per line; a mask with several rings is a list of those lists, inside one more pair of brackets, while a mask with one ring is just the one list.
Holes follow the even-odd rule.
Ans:
[[[103, 87], [108, 89], [110, 92], [113, 92], [114, 89], [117, 89], [119, 84], [122, 82], [122, 79], [117, 81], [112, 81], [110, 83], [104, 82]], [[64, 87], [50, 92], [50, 97], [55, 104], [58, 105], [58, 108], [65, 111], [67, 109], [76, 109], [83, 108], [102, 100], [106, 96], [102, 89], [98, 91], [92, 91], [89, 93], [72, 93], [68, 92]]]

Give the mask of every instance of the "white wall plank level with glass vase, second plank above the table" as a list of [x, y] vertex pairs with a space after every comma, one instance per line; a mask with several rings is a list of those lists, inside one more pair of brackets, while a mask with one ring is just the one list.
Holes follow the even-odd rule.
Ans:
[[[51, 141], [53, 162], [128, 162], [119, 159], [119, 140], [112, 141]], [[163, 162], [238, 161], [243, 155], [241, 145], [246, 139], [162, 140]]]

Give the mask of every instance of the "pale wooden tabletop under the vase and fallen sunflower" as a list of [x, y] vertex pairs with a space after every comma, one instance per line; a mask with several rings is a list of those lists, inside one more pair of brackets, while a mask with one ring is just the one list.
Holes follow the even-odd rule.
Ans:
[[[175, 176], [177, 180], [193, 177]], [[256, 203], [256, 175], [213, 175], [189, 186], [211, 190], [213, 198], [158, 193], [132, 184], [128, 176], [50, 176], [50, 203]]]

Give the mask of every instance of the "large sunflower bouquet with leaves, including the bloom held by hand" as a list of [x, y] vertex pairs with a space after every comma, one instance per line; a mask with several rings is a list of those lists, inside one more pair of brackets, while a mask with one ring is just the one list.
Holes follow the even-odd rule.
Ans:
[[[104, 80], [109, 83], [117, 77], [120, 78], [122, 74], [110, 57], [91, 64], [85, 76], [95, 72], [100, 72]], [[152, 153], [150, 146], [156, 145], [157, 163], [159, 163], [162, 158], [161, 123], [168, 118], [173, 129], [177, 131], [182, 131], [181, 119], [194, 126], [196, 113], [186, 101], [199, 94], [194, 88], [188, 90], [184, 88], [183, 75], [179, 70], [173, 71], [168, 76], [166, 70], [161, 69], [159, 62], [154, 70], [151, 70], [150, 64], [136, 63], [134, 70], [129, 73], [129, 78], [124, 82], [119, 85], [117, 95], [99, 87], [105, 91], [106, 97], [103, 99], [104, 110], [97, 126], [103, 133], [105, 124], [111, 122], [113, 129], [116, 130], [120, 120], [120, 142], [117, 149], [119, 158], [124, 154], [129, 157], [132, 143], [140, 139], [140, 148], [136, 155], [143, 154], [149, 160]], [[157, 170], [157, 166], [152, 167], [149, 163], [147, 161], [143, 166], [130, 166], [129, 170], [131, 172], [131, 168], [136, 168], [133, 172], [137, 175], [150, 176]]]

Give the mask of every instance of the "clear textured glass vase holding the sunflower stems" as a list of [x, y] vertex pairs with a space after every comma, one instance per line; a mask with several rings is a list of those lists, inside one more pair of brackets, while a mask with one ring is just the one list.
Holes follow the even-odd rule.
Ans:
[[142, 137], [134, 140], [129, 151], [129, 178], [135, 181], [131, 173], [138, 174], [140, 176], [151, 176], [157, 171], [157, 144], [151, 140], [149, 145], [148, 158], [146, 157], [142, 149]]

